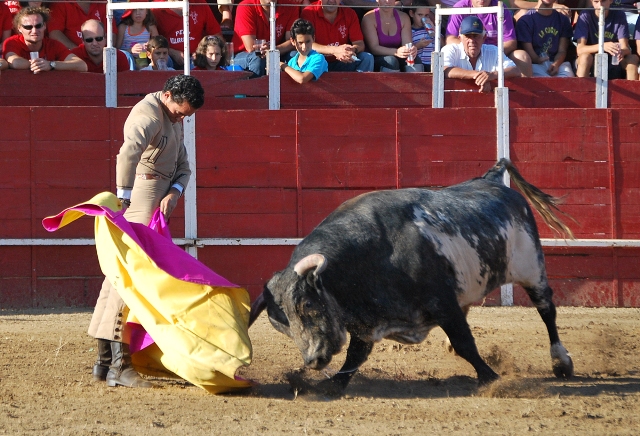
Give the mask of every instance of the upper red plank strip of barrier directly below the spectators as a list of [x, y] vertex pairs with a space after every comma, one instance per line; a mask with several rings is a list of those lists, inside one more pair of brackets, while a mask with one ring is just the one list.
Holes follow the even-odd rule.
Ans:
[[[118, 105], [133, 106], [142, 96], [162, 88], [176, 72], [127, 71], [118, 74]], [[206, 109], [267, 109], [267, 77], [249, 73], [193, 71], [203, 84]], [[299, 85], [281, 75], [281, 107], [308, 108], [429, 108], [430, 73], [326, 73]], [[514, 78], [505, 81], [511, 108], [594, 108], [595, 79]], [[469, 81], [445, 80], [445, 107], [494, 107], [493, 94], [476, 92]], [[0, 106], [104, 106], [104, 76], [58, 72], [34, 75], [5, 71], [0, 76]], [[609, 82], [612, 108], [640, 106], [640, 82]]]

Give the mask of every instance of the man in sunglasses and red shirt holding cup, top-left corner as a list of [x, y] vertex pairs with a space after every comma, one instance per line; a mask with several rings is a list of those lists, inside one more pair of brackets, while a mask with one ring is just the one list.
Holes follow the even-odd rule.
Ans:
[[[87, 71], [87, 65], [71, 53], [62, 43], [45, 36], [49, 9], [22, 8], [13, 20], [17, 35], [9, 37], [3, 45], [3, 53], [14, 70], [42, 72]], [[38, 57], [31, 59], [30, 53]]]

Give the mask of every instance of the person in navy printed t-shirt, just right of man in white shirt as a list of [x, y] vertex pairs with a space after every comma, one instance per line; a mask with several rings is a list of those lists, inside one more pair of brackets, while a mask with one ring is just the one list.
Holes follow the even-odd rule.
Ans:
[[538, 0], [516, 23], [518, 42], [531, 57], [533, 77], [575, 77], [566, 62], [573, 36], [571, 22], [553, 6], [556, 0]]

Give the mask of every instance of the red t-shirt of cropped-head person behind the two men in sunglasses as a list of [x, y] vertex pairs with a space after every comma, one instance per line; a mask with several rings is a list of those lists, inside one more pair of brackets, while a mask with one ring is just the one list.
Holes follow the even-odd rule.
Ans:
[[[82, 23], [87, 20], [98, 20], [107, 28], [107, 5], [91, 3], [89, 13], [85, 14], [75, 1], [54, 2], [51, 4], [51, 18], [47, 24], [49, 34], [60, 30], [75, 45], [82, 44]], [[117, 33], [117, 30], [115, 31]]]

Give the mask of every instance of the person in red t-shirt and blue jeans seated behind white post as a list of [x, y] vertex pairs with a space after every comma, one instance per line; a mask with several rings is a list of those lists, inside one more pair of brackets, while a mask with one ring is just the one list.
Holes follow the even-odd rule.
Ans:
[[[300, 6], [288, 0], [276, 2], [276, 49], [280, 51], [280, 59], [288, 62], [291, 51], [291, 25], [298, 19]], [[268, 49], [269, 33], [269, 0], [242, 0], [236, 9], [236, 23], [233, 28], [233, 46], [235, 48], [235, 64], [243, 70], [251, 71], [255, 76], [266, 74], [267, 62], [263, 55]], [[256, 39], [264, 39], [266, 44], [255, 47]]]

